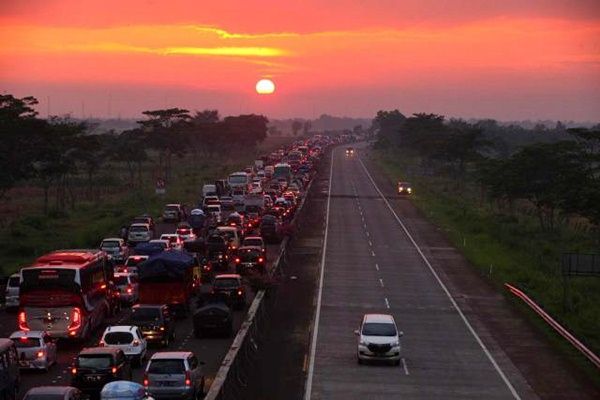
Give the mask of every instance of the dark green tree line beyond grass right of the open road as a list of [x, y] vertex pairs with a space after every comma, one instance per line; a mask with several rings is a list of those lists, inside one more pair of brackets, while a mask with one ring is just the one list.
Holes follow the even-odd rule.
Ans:
[[459, 185], [478, 184], [499, 208], [510, 212], [516, 201], [527, 201], [543, 230], [554, 230], [559, 215], [600, 225], [600, 125], [525, 129], [392, 110], [379, 111], [373, 126], [376, 146], [417, 156], [425, 171]]

